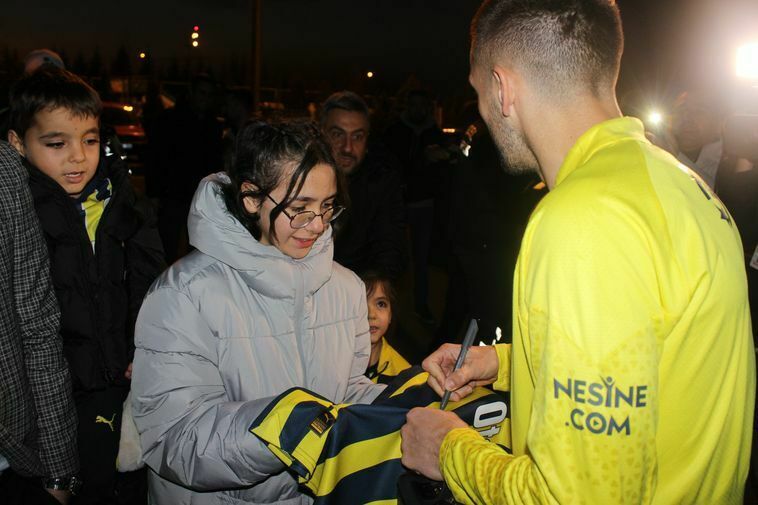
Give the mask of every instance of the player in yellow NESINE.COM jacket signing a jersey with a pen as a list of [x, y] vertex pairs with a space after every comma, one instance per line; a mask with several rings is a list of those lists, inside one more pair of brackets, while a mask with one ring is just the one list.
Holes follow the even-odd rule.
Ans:
[[613, 0], [485, 1], [470, 81], [510, 167], [550, 189], [514, 279], [513, 345], [424, 361], [451, 399], [511, 391], [513, 454], [414, 409], [403, 463], [464, 503], [742, 503], [755, 353], [742, 248], [707, 185], [622, 117]]

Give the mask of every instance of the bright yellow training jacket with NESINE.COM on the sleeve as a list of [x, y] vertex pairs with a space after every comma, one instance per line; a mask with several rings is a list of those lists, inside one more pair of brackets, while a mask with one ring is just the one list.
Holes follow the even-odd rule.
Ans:
[[638, 120], [569, 152], [529, 220], [497, 351], [514, 455], [451, 431], [440, 465], [459, 501], [742, 503], [755, 354], [739, 235]]

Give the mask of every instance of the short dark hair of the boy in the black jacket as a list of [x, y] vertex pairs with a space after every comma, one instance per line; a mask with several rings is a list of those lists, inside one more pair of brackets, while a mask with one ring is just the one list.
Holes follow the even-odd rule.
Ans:
[[46, 65], [22, 77], [11, 88], [10, 129], [20, 138], [42, 110], [63, 108], [75, 117], [100, 117], [103, 104], [97, 92], [78, 76]]

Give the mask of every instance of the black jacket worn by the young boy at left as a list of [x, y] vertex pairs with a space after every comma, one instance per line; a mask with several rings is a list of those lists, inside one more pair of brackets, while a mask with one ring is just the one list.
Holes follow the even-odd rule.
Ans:
[[137, 198], [120, 159], [101, 156], [98, 174], [111, 180], [113, 196], [98, 225], [93, 253], [76, 201], [53, 179], [26, 165], [50, 254], [74, 391], [125, 384], [137, 313], [165, 267], [150, 204]]

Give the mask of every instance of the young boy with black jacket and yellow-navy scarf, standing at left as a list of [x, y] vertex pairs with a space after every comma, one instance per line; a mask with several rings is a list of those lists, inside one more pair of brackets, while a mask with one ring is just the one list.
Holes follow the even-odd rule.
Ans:
[[114, 500], [121, 410], [142, 298], [163, 269], [152, 213], [117, 156], [101, 156], [97, 93], [43, 68], [11, 91], [9, 142], [25, 158], [61, 309], [83, 487], [76, 504]]

